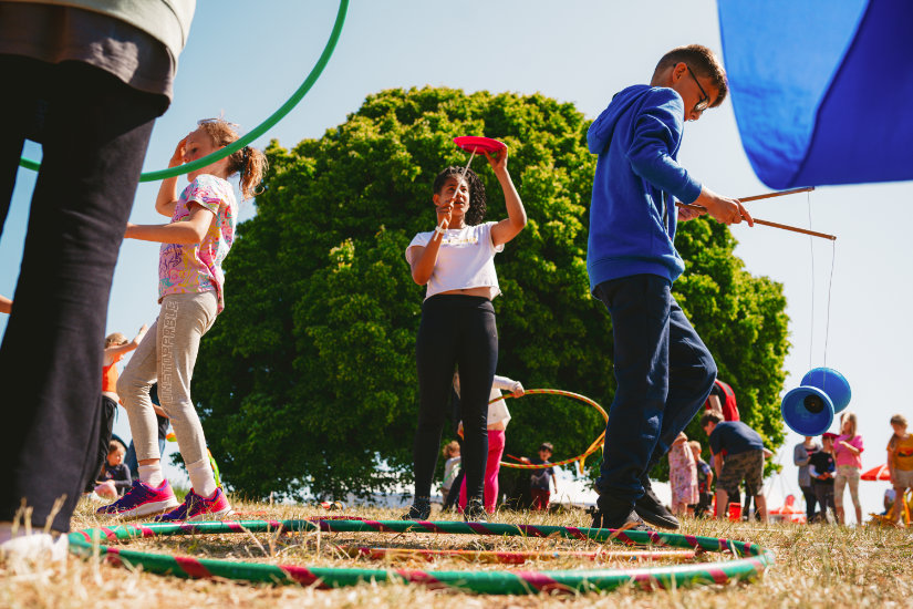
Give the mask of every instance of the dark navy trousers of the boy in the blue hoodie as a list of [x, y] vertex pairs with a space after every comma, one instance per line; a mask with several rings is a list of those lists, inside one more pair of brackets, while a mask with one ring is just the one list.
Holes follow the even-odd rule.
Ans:
[[713, 357], [671, 289], [657, 275], [633, 275], [594, 290], [612, 317], [618, 381], [596, 488], [632, 505], [643, 495], [641, 478], [701, 410], [716, 379]]

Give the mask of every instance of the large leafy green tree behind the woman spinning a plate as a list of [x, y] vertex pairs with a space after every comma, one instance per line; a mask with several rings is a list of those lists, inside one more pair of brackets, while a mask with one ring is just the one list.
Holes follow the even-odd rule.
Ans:
[[[508, 144], [529, 214], [496, 259], [498, 372], [527, 388], [583, 393], [608, 410], [611, 323], [589, 295], [585, 267], [595, 165], [588, 126], [572, 104], [538, 94], [425, 87], [372, 95], [344, 124], [290, 151], [272, 143], [257, 216], [239, 227], [226, 261], [227, 308], [204, 339], [194, 380], [225, 479], [252, 496], [305, 487], [365, 494], [411, 482], [425, 288], [412, 281], [404, 251], [434, 227], [434, 176], [466, 162], [457, 135]], [[492, 173], [484, 161], [476, 169], [488, 219], [505, 217]], [[720, 369], [744, 392], [743, 410], [753, 409], [746, 420], [776, 444], [787, 347], [780, 287], [741, 270], [725, 227], [689, 224], [682, 304], [726, 358]], [[510, 406], [508, 452], [530, 454], [548, 438], [556, 457], [573, 456], [603, 427], [593, 409], [567, 399]]]

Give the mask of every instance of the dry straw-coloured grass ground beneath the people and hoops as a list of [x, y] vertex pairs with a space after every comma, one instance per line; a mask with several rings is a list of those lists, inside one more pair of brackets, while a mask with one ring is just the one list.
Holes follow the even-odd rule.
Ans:
[[[286, 505], [246, 504], [235, 500], [236, 509], [255, 513], [249, 518], [308, 518], [326, 516], [320, 508]], [[73, 528], [100, 525], [94, 505], [80, 505]], [[400, 512], [359, 508], [345, 514], [372, 519], [395, 519]], [[434, 513], [433, 519], [453, 519]], [[589, 526], [580, 513], [522, 514], [505, 512], [492, 522], [511, 524]], [[643, 591], [634, 586], [610, 592], [587, 595], [483, 596], [435, 591], [405, 584], [366, 582], [352, 588], [320, 590], [301, 586], [249, 585], [219, 580], [185, 580], [115, 567], [98, 560], [70, 556], [64, 565], [18, 567], [0, 565], [0, 607], [893, 607], [909, 606], [913, 599], [913, 535], [909, 529], [838, 527], [832, 525], [786, 525], [684, 522], [682, 533], [750, 540], [771, 549], [775, 565], [762, 579], [726, 586]], [[194, 557], [227, 558], [282, 565], [414, 569], [505, 569], [505, 565], [443, 558], [426, 562], [415, 557], [371, 561], [350, 558], [340, 546], [395, 548], [461, 548], [497, 550], [595, 550], [600, 545], [563, 539], [476, 537], [466, 535], [294, 533], [181, 536], [133, 540], [123, 547], [153, 553]], [[623, 548], [619, 548], [623, 549]], [[701, 560], [720, 559], [716, 554]], [[651, 562], [672, 565], [676, 560]], [[631, 566], [610, 559], [600, 567]], [[535, 558], [526, 570], [589, 569], [585, 558]]]

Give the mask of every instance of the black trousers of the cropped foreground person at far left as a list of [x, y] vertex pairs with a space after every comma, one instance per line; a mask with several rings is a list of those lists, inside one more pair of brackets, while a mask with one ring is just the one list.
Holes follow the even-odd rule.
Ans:
[[[167, 107], [81, 62], [0, 54], [0, 226], [24, 141], [42, 145], [14, 303], [0, 345], [0, 520], [22, 502], [54, 530], [93, 472], [114, 266], [153, 122]], [[13, 295], [4, 295], [13, 296]]]

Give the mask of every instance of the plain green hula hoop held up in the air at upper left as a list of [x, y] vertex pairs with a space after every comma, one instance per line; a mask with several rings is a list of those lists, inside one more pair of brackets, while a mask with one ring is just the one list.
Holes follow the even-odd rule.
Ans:
[[[330, 61], [330, 58], [333, 55], [333, 50], [336, 47], [336, 41], [342, 33], [342, 25], [345, 23], [345, 13], [349, 9], [349, 0], [340, 0], [339, 11], [336, 12], [336, 21], [333, 23], [333, 31], [330, 33], [330, 40], [326, 41], [326, 45], [323, 48], [323, 52], [320, 54], [314, 66], [311, 69], [311, 72], [308, 74], [308, 78], [304, 79], [304, 82], [301, 83], [301, 86], [292, 93], [292, 96], [288, 99], [288, 101], [282, 104], [279, 110], [273, 112], [266, 121], [253, 127], [247, 135], [238, 138], [237, 141], [232, 142], [231, 144], [220, 148], [212, 154], [206, 155], [203, 158], [198, 158], [193, 163], [186, 163], [184, 165], [179, 165], [177, 167], [169, 167], [167, 169], [159, 169], [156, 172], [146, 172], [141, 174], [139, 182], [156, 182], [159, 179], [165, 179], [168, 177], [176, 177], [179, 175], [184, 175], [189, 172], [194, 172], [196, 169], [200, 169], [215, 163], [216, 161], [220, 161], [226, 156], [234, 154], [261, 135], [263, 135], [267, 131], [272, 128], [279, 121], [286, 117], [286, 115], [292, 111], [294, 106], [304, 97], [308, 91], [317, 82], [320, 74], [323, 72], [323, 69], [326, 66], [326, 63]], [[25, 158], [24, 156], [19, 159], [19, 165], [25, 167], [27, 169], [34, 169], [38, 171], [41, 167], [41, 163], [37, 161], [32, 161], [31, 158]]]

